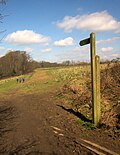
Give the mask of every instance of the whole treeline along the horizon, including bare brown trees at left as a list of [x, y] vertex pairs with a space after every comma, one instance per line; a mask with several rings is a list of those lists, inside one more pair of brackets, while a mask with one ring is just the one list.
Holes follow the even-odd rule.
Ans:
[[[112, 60], [120, 61], [120, 58]], [[103, 61], [102, 63], [111, 61]], [[88, 62], [63, 61], [62, 63], [51, 63], [46, 61], [37, 62], [33, 60], [25, 51], [9, 51], [5, 56], [0, 58], [0, 79], [10, 76], [17, 76], [32, 72], [36, 68], [62, 67], [75, 65], [89, 65]]]

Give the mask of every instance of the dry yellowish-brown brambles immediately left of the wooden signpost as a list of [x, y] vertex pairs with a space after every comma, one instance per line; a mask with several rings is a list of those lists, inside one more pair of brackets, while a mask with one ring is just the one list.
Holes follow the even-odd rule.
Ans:
[[58, 92], [63, 96], [63, 104], [91, 118], [90, 66], [61, 68], [54, 70], [53, 74], [64, 83]]

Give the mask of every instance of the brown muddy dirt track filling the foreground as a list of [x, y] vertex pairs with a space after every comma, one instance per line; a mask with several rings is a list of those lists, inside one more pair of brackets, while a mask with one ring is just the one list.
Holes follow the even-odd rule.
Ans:
[[78, 117], [60, 106], [53, 93], [12, 96], [1, 103], [13, 109], [6, 116], [9, 118], [0, 140], [1, 155], [94, 154], [80, 145], [80, 138], [120, 153], [119, 139], [77, 124]]

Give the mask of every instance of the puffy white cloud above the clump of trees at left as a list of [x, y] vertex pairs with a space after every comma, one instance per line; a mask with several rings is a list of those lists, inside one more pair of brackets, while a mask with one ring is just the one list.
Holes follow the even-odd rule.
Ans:
[[35, 33], [32, 30], [16, 31], [9, 34], [5, 38], [6, 42], [18, 45], [28, 45], [36, 43], [48, 44], [50, 41], [49, 37], [45, 37], [41, 34]]

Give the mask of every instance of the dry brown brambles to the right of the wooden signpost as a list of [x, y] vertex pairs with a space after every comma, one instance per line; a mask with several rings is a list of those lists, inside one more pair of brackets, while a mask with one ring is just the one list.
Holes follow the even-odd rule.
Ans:
[[120, 63], [101, 72], [102, 123], [120, 129]]

